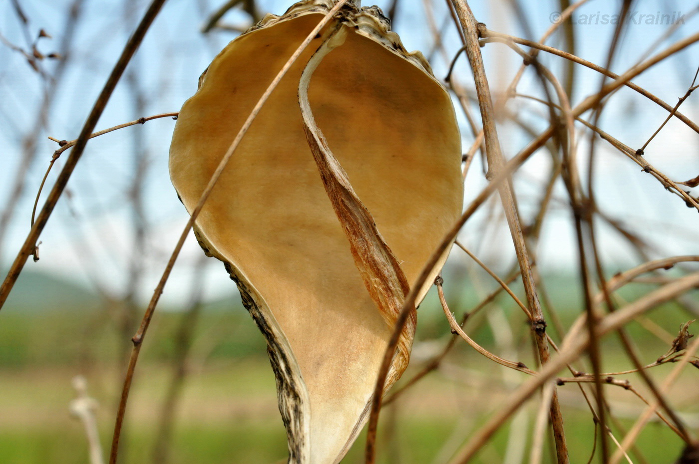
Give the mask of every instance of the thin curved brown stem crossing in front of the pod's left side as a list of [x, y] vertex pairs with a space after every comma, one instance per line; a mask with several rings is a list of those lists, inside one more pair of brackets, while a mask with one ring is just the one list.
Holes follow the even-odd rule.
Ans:
[[112, 437], [112, 448], [110, 451], [109, 458], [110, 464], [117, 463], [117, 454], [119, 451], [119, 440], [122, 430], [122, 423], [124, 421], [124, 414], [126, 412], [127, 402], [129, 400], [129, 391], [131, 390], [131, 382], [133, 382], [134, 379], [134, 371], [136, 370], [136, 363], [138, 362], [138, 354], [140, 353], [140, 347], [142, 346], [143, 338], [145, 338], [145, 334], [148, 330], [148, 326], [150, 325], [150, 320], [153, 317], [153, 313], [155, 311], [155, 307], [158, 303], [158, 300], [160, 299], [160, 295], [162, 294], [165, 284], [168, 278], [170, 277], [170, 273], [172, 272], [173, 266], [175, 266], [175, 261], [177, 261], [177, 258], [182, 249], [182, 245], [185, 244], [187, 235], [189, 235], [189, 232], [192, 230], [192, 225], [194, 224], [196, 217], [199, 216], [199, 213], [201, 212], [204, 203], [206, 202], [206, 199], [211, 194], [211, 191], [214, 188], [216, 182], [219, 180], [219, 177], [221, 177], [224, 168], [226, 168], [226, 164], [228, 164], [228, 161], [231, 159], [231, 157], [233, 157], [233, 152], [235, 152], [236, 148], [238, 148], [238, 145], [240, 145], [240, 140], [243, 140], [243, 136], [245, 136], [247, 130], [250, 129], [252, 122], [254, 121], [255, 117], [257, 117], [257, 115], [259, 114], [264, 103], [269, 99], [269, 96], [279, 85], [279, 82], [282, 80], [282, 78], [284, 78], [284, 75], [286, 75], [287, 71], [289, 71], [289, 68], [291, 68], [291, 66], [296, 62], [298, 57], [301, 56], [303, 50], [305, 50], [305, 48], [308, 47], [308, 45], [311, 43], [316, 34], [318, 34], [319, 31], [321, 31], [323, 27], [325, 27], [325, 25], [331, 20], [333, 15], [335, 15], [335, 13], [337, 13], [338, 10], [340, 10], [340, 8], [342, 8], [345, 5], [345, 3], [347, 3], [347, 1], [348, 0], [338, 1], [338, 3], [336, 3], [336, 5], [333, 6], [333, 8], [331, 8], [331, 10], [329, 10], [329, 12], [326, 13], [326, 15], [324, 15], [324, 17], [322, 18], [322, 20], [320, 20], [316, 27], [313, 28], [312, 31], [310, 31], [310, 34], [308, 34], [308, 36], [303, 40], [303, 42], [301, 42], [301, 45], [298, 45], [298, 48], [296, 49], [296, 51], [294, 51], [294, 54], [291, 55], [291, 57], [289, 57], [284, 66], [282, 66], [279, 73], [272, 80], [270, 85], [265, 90], [264, 94], [261, 95], [259, 101], [257, 101], [257, 104], [254, 106], [254, 108], [250, 112], [250, 115], [245, 120], [245, 124], [243, 124], [243, 126], [240, 128], [240, 131], [238, 131], [236, 138], [233, 139], [233, 142], [229, 146], [228, 150], [226, 150], [226, 153], [224, 154], [216, 170], [212, 174], [211, 179], [206, 185], [206, 188], [201, 193], [199, 201], [196, 203], [194, 210], [192, 210], [192, 213], [189, 216], [189, 220], [187, 220], [187, 225], [185, 225], [185, 229], [180, 234], [180, 238], [177, 242], [177, 245], [175, 245], [175, 249], [173, 249], [170, 259], [168, 259], [168, 263], [165, 267], [165, 270], [163, 271], [163, 275], [161, 276], [157, 284], [157, 287], [153, 292], [153, 296], [150, 300], [150, 303], [148, 304], [147, 309], [145, 310], [145, 313], [143, 314], [143, 319], [141, 320], [140, 327], [138, 328], [136, 335], [134, 335], [134, 338], [131, 339], [131, 341], [134, 342], [134, 348], [131, 350], [131, 358], [129, 358], [129, 367], [127, 368], [126, 375], [124, 376], [124, 386], [122, 388], [119, 409], [117, 410], [117, 416], [115, 419], [114, 434]]

